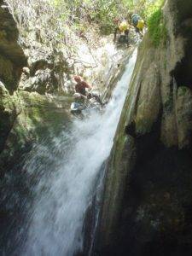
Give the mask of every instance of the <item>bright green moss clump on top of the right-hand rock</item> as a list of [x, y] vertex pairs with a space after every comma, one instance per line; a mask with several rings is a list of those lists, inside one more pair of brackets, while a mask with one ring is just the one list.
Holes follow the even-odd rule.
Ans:
[[157, 9], [148, 19], [148, 33], [152, 43], [158, 47], [160, 43], [166, 44], [166, 23], [161, 9]]

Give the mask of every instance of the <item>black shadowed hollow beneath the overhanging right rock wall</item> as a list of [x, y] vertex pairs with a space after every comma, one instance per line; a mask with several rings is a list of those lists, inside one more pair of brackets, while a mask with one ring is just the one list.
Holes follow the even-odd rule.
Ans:
[[125, 192], [120, 255], [190, 255], [191, 154], [161, 146], [148, 150], [144, 138], [137, 143], [142, 152], [137, 152], [137, 165]]

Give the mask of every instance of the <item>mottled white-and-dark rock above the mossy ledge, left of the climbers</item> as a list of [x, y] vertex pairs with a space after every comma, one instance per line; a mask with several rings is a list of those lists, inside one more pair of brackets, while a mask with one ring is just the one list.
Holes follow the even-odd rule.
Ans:
[[45, 92], [65, 91], [67, 76], [71, 71], [62, 52], [55, 52], [36, 41], [33, 41], [32, 46], [28, 48], [25, 49], [26, 55], [29, 56], [28, 67], [23, 69], [19, 89], [37, 91], [41, 95]]

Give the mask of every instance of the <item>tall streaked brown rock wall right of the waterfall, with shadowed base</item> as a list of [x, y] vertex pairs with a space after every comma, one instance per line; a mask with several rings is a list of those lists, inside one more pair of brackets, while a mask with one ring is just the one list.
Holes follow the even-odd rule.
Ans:
[[192, 253], [191, 4], [166, 1], [166, 46], [148, 35], [140, 46], [108, 167], [101, 255]]

